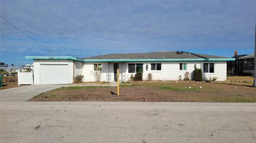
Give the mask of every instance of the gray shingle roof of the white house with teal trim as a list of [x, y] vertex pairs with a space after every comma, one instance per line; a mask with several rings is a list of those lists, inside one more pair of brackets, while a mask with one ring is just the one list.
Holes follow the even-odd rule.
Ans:
[[204, 55], [189, 52], [150, 52], [150, 53], [127, 53], [127, 54], [107, 54], [84, 59], [174, 59], [174, 58], [228, 58], [222, 56]]

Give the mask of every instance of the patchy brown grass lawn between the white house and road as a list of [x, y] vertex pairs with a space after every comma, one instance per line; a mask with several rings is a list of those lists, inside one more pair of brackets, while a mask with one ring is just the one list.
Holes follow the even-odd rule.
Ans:
[[[200, 86], [202, 88], [200, 88]], [[191, 88], [189, 88], [191, 87]], [[44, 92], [30, 101], [118, 101], [118, 102], [256, 102], [256, 88], [223, 83], [135, 82], [116, 87], [62, 87]]]

